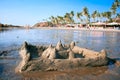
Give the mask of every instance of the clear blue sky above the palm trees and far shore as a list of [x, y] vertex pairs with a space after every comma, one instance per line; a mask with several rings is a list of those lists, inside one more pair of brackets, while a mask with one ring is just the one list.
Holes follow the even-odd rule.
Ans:
[[63, 16], [66, 12], [110, 10], [114, 0], [0, 0], [0, 23], [34, 25], [50, 16]]

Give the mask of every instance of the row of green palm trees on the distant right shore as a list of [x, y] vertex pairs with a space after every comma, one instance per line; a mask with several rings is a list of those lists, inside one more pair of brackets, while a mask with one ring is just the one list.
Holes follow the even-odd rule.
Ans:
[[[53, 25], [63, 25], [63, 24], [89, 24], [91, 22], [115, 22], [115, 18], [120, 18], [120, 13], [117, 13], [118, 8], [120, 8], [120, 0], [115, 0], [110, 8], [106, 12], [99, 12], [97, 10], [93, 13], [89, 13], [87, 7], [84, 7], [81, 12], [75, 13], [71, 11], [66, 13], [64, 16], [51, 16], [46, 21], [52, 23]], [[75, 20], [78, 20], [76, 22]]]

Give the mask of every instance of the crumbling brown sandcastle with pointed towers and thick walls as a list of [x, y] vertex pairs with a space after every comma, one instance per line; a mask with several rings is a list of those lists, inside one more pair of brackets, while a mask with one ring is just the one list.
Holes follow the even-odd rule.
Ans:
[[61, 41], [56, 46], [34, 46], [25, 42], [20, 49], [22, 58], [16, 70], [20, 73], [28, 71], [64, 71], [79, 69], [86, 66], [104, 66], [109, 63], [105, 50], [96, 52], [80, 48], [71, 42], [62, 45]]

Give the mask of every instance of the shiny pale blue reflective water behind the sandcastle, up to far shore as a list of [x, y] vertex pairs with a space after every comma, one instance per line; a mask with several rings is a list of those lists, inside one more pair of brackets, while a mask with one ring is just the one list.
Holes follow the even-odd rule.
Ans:
[[32, 44], [55, 45], [59, 40], [64, 44], [75, 41], [80, 47], [97, 51], [106, 49], [109, 56], [120, 56], [120, 33], [104, 31], [12, 29], [0, 32], [0, 49], [10, 46], [20, 46], [24, 41]]

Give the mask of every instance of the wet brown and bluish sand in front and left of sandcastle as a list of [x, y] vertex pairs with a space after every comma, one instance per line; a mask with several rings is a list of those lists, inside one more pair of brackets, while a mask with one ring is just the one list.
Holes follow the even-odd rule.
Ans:
[[8, 51], [6, 56], [0, 57], [0, 80], [119, 80], [120, 67], [115, 65], [102, 67], [83, 67], [67, 71], [46, 71], [15, 73], [19, 64], [18, 49]]

